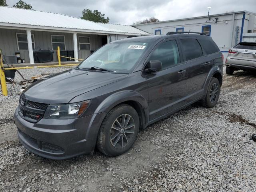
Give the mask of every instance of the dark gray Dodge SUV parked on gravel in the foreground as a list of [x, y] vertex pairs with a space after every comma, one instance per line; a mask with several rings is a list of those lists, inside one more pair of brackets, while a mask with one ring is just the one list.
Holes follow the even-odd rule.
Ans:
[[118, 156], [140, 128], [199, 100], [215, 106], [222, 75], [222, 53], [204, 34], [117, 40], [26, 88], [14, 114], [18, 138], [51, 159], [89, 154], [96, 146]]

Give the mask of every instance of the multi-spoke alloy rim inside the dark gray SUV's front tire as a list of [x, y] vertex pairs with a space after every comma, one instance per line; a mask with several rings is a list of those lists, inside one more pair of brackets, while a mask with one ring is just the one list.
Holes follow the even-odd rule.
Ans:
[[110, 130], [110, 143], [114, 148], [124, 148], [134, 136], [135, 123], [132, 116], [122, 114], [114, 120]]

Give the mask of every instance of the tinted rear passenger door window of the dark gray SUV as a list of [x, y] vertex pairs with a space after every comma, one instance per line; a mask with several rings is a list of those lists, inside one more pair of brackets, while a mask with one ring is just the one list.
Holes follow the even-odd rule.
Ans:
[[182, 39], [180, 41], [187, 61], [203, 56], [202, 48], [196, 39]]

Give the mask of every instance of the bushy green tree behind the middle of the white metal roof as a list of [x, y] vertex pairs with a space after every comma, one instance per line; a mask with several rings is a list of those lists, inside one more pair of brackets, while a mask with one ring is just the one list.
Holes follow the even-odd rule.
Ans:
[[105, 18], [105, 14], [101, 14], [98, 10], [92, 10], [90, 9], [84, 9], [82, 11], [83, 16], [81, 19], [89, 20], [89, 21], [94, 21], [94, 22], [100, 22], [100, 23], [108, 23], [109, 18]]

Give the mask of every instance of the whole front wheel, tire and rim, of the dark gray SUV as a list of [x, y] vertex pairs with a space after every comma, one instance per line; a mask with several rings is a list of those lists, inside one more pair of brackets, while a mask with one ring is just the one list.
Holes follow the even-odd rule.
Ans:
[[106, 156], [118, 156], [134, 144], [139, 131], [139, 116], [127, 104], [114, 107], [104, 118], [98, 133], [97, 147]]

